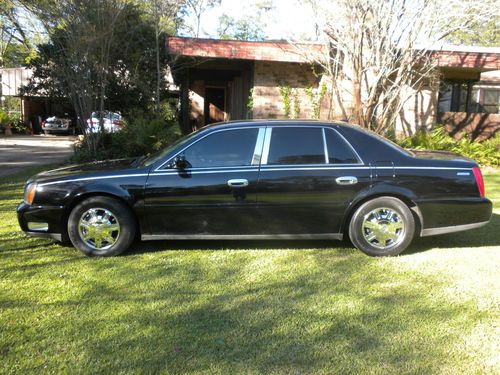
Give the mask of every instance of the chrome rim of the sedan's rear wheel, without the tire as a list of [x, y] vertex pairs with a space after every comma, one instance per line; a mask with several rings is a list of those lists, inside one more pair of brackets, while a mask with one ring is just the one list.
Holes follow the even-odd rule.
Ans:
[[392, 208], [376, 208], [363, 218], [363, 237], [372, 246], [387, 249], [404, 238], [403, 216]]

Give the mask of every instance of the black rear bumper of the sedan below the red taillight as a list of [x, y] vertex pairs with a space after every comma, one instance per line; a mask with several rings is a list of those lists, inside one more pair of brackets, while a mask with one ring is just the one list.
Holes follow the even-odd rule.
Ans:
[[487, 198], [442, 199], [418, 202], [423, 225], [420, 235], [460, 232], [490, 221], [493, 204]]

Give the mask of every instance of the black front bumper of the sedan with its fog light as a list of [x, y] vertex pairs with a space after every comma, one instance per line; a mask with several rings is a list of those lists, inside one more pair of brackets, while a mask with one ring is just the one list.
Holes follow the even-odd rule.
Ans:
[[61, 241], [64, 230], [64, 207], [30, 206], [21, 202], [16, 211], [19, 226], [28, 236]]

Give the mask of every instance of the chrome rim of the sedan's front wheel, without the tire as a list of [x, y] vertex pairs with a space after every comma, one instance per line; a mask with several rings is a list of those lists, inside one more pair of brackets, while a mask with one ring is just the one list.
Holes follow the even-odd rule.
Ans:
[[120, 236], [120, 223], [115, 214], [105, 208], [91, 208], [78, 222], [78, 234], [95, 250], [107, 250]]

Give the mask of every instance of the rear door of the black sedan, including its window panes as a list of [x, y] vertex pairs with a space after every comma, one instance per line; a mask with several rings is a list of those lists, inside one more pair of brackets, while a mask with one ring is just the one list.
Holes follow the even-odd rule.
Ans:
[[369, 184], [369, 167], [334, 129], [267, 128], [258, 195], [264, 233], [337, 234], [354, 195]]

